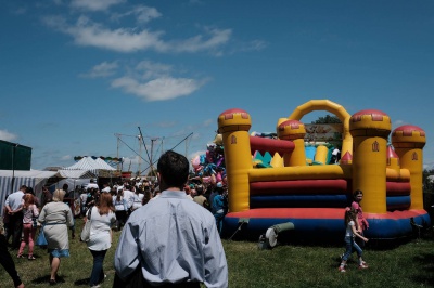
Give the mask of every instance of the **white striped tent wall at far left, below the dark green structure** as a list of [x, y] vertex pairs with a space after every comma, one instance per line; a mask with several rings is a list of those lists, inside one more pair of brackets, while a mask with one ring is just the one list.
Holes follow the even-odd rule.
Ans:
[[[33, 187], [35, 195], [39, 197], [42, 192], [42, 186], [47, 183], [48, 179], [52, 176], [59, 176], [59, 173], [56, 171], [41, 170], [0, 170], [0, 211], [3, 211], [7, 196], [18, 191], [22, 185]], [[12, 179], [14, 179], [13, 186]]]

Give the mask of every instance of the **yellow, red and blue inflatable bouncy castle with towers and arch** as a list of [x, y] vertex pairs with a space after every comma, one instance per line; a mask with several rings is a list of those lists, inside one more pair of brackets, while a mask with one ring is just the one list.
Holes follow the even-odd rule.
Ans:
[[[343, 123], [337, 163], [307, 160], [306, 129], [299, 120], [312, 110], [333, 113]], [[328, 100], [309, 101], [278, 119], [277, 139], [252, 136], [251, 126], [251, 116], [242, 109], [218, 117], [229, 195], [225, 235], [241, 226], [250, 236], [260, 235], [272, 225], [292, 222], [295, 237], [342, 238], [345, 207], [356, 189], [363, 192], [368, 238], [396, 239], [411, 235], [414, 225], [430, 225], [423, 209], [421, 128], [398, 127], [388, 143], [392, 123], [385, 113], [366, 109], [349, 115]], [[256, 168], [252, 156], [257, 153], [268, 153], [270, 165]]]

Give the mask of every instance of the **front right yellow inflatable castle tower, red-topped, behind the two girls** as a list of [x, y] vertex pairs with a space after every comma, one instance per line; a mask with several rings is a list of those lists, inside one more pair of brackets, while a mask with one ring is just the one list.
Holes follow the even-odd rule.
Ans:
[[353, 192], [363, 192], [363, 211], [385, 213], [387, 136], [391, 118], [380, 110], [361, 110], [349, 119], [353, 136]]

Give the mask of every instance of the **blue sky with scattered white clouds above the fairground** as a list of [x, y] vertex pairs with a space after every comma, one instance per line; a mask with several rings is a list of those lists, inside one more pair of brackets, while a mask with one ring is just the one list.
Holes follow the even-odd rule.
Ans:
[[155, 155], [193, 133], [176, 148], [192, 158], [226, 109], [270, 132], [321, 99], [421, 127], [434, 168], [433, 1], [0, 4], [0, 139], [31, 147], [33, 169], [86, 155], [144, 169], [138, 127]]

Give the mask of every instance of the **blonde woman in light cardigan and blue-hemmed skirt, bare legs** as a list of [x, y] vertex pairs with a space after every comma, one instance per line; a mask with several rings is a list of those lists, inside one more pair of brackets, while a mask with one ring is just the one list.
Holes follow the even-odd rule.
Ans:
[[74, 217], [69, 206], [63, 202], [64, 197], [63, 189], [54, 191], [52, 201], [42, 207], [38, 219], [43, 224], [47, 249], [50, 253], [50, 285], [56, 284], [61, 258], [69, 257], [68, 227], [74, 226]]

